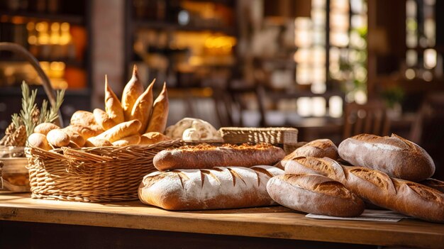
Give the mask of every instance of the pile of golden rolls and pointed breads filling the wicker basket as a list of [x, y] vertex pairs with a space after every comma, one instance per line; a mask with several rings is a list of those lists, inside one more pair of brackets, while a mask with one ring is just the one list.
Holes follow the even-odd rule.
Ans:
[[119, 100], [105, 77], [105, 110], [76, 111], [70, 126], [53, 123], [36, 126], [28, 138], [29, 145], [44, 150], [60, 147], [100, 147], [152, 144], [171, 140], [163, 135], [168, 118], [166, 84], [153, 101], [152, 81], [147, 89], [138, 78], [137, 67]]

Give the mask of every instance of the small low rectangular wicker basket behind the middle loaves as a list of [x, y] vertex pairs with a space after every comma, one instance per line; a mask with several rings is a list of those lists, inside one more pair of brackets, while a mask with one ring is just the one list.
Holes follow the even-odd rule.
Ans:
[[219, 129], [225, 143], [270, 143], [292, 153], [297, 143], [296, 128], [222, 127]]

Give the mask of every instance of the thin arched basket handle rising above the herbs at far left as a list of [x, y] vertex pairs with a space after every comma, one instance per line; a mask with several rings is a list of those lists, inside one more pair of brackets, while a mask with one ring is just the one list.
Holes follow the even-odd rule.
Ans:
[[[37, 71], [38, 76], [40, 77], [40, 79], [42, 79], [43, 89], [45, 89], [45, 93], [48, 96], [48, 99], [50, 100], [51, 106], [54, 106], [55, 105], [54, 90], [52, 89], [50, 79], [45, 74], [45, 72], [43, 72], [42, 67], [40, 67], [40, 64], [38, 63], [38, 60], [33, 55], [31, 55], [31, 53], [28, 52], [28, 50], [26, 50], [21, 45], [18, 45], [16, 43], [0, 43], [0, 51], [1, 50], [17, 52], [18, 54], [22, 55], [30, 63], [30, 65], [34, 67], [35, 71]], [[59, 119], [58, 121], [56, 121], [56, 124], [57, 126], [63, 127], [63, 118], [60, 109], [58, 111], [58, 116]]]

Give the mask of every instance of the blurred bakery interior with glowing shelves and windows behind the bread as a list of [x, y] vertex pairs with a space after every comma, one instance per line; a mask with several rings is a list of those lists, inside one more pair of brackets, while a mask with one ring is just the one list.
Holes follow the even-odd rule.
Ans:
[[[443, 9], [435, 0], [1, 0], [0, 41], [26, 48], [52, 88], [66, 89], [63, 118], [103, 109], [105, 75], [121, 93], [136, 65], [145, 87], [167, 83], [169, 124], [295, 127], [300, 141], [335, 143], [396, 133], [439, 169]], [[46, 97], [35, 68], [0, 50], [0, 136], [21, 109], [23, 81]]]

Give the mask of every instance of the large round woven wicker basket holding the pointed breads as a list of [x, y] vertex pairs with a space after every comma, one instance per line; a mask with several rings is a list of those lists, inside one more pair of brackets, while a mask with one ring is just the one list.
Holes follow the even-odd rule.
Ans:
[[152, 158], [179, 140], [126, 147], [26, 148], [33, 198], [62, 201], [131, 201], [145, 175], [154, 172]]

